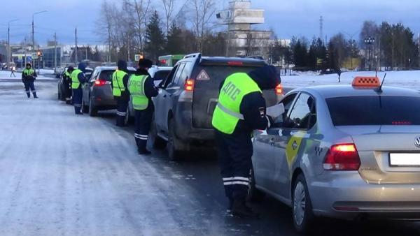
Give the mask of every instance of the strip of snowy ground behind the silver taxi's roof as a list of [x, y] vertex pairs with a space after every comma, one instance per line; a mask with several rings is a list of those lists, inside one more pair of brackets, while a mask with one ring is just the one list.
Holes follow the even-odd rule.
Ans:
[[[314, 75], [313, 73], [299, 73], [292, 76], [281, 76], [281, 83], [284, 87], [307, 87], [314, 85], [351, 84], [356, 76], [374, 76], [374, 71], [356, 71], [342, 73], [341, 82], [338, 82], [338, 75]], [[379, 72], [380, 80], [384, 78], [385, 72]], [[420, 90], [420, 71], [387, 71], [384, 85], [406, 87]]]

